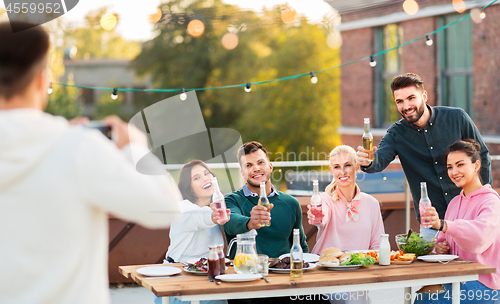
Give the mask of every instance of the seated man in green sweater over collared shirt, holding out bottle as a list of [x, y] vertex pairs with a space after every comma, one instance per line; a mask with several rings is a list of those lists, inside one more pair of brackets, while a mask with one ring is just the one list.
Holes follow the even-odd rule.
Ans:
[[[224, 225], [226, 239], [251, 229], [257, 230], [256, 245], [259, 254], [276, 258], [289, 253], [293, 244], [293, 229], [300, 229], [302, 250], [308, 252], [306, 236], [302, 227], [302, 210], [294, 197], [276, 190], [271, 184], [273, 165], [266, 149], [258, 142], [243, 144], [238, 150], [238, 162], [245, 185], [226, 196], [226, 206], [231, 209], [231, 219]], [[260, 182], [265, 182], [266, 195], [271, 208], [259, 206]], [[271, 220], [272, 215], [272, 220]], [[261, 223], [270, 223], [260, 227]], [[230, 257], [234, 258], [235, 248]]]

